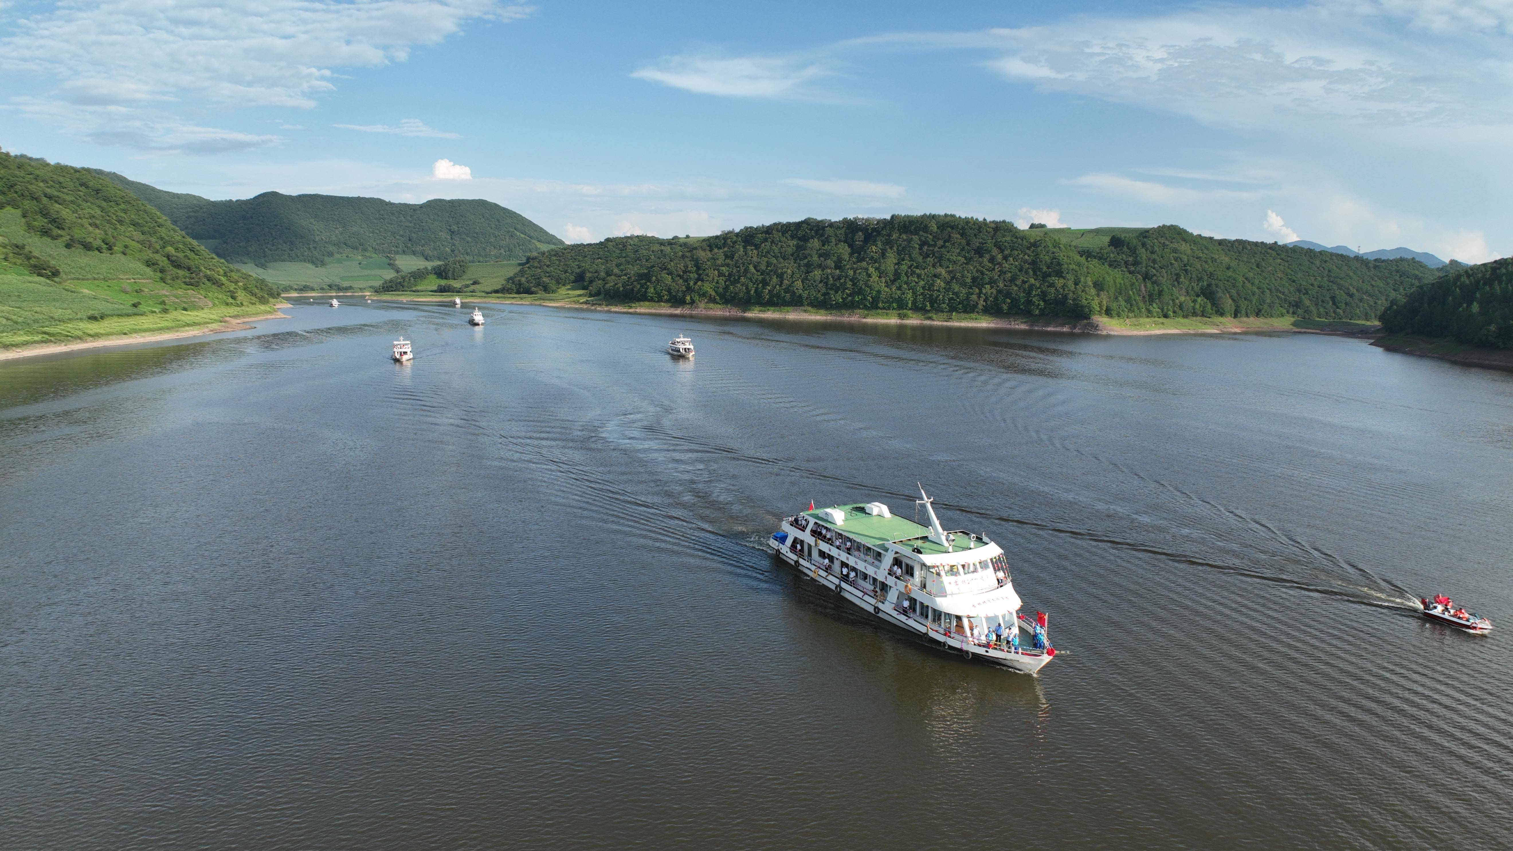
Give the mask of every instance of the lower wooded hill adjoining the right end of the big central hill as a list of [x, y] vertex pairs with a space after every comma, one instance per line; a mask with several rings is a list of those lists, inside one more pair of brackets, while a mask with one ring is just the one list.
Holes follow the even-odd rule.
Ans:
[[1109, 316], [1306, 316], [1374, 320], [1393, 298], [1437, 276], [1418, 260], [1366, 260], [1212, 239], [1174, 224], [1115, 235], [1083, 251], [1111, 270]]

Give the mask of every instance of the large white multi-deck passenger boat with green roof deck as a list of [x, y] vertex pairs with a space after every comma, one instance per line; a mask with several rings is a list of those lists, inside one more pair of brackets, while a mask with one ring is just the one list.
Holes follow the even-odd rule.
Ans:
[[930, 525], [882, 503], [800, 512], [769, 544], [800, 574], [879, 619], [968, 659], [1035, 674], [1056, 656], [1045, 615], [1020, 615], [1003, 548], [946, 531], [924, 489]]

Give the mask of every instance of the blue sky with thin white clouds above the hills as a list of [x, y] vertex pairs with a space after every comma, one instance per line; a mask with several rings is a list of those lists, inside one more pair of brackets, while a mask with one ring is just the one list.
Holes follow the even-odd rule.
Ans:
[[0, 0], [6, 150], [570, 241], [953, 212], [1480, 262], [1510, 82], [1510, 0]]

